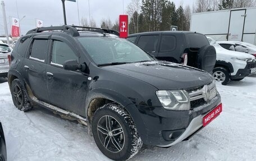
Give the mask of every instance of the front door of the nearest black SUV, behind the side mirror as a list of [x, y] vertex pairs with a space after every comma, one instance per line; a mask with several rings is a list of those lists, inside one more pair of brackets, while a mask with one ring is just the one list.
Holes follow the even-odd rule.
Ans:
[[65, 61], [76, 59], [79, 62], [81, 60], [66, 39], [54, 39], [54, 36], [52, 38], [50, 61], [45, 73], [50, 103], [67, 111], [86, 116], [85, 96], [88, 76], [78, 70], [64, 70]]

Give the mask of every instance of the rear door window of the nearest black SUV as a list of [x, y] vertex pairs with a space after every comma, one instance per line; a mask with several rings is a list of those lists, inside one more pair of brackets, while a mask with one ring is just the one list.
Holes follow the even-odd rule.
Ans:
[[47, 39], [35, 39], [31, 47], [30, 58], [44, 62], [47, 54]]

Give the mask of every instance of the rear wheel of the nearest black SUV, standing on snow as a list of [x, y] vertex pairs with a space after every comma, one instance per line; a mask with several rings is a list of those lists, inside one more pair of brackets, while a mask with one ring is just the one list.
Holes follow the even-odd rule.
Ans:
[[28, 102], [28, 96], [25, 93], [25, 88], [19, 79], [12, 81], [11, 94], [13, 104], [17, 109], [20, 111], [29, 111], [32, 108], [31, 104]]

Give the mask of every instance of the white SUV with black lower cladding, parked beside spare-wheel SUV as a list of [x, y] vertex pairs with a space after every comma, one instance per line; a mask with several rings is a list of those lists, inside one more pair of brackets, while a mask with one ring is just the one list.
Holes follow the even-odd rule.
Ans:
[[207, 38], [216, 49], [216, 65], [213, 69], [213, 77], [227, 85], [230, 80], [240, 81], [244, 77], [256, 73], [256, 60], [251, 54], [235, 52], [222, 48], [212, 38]]

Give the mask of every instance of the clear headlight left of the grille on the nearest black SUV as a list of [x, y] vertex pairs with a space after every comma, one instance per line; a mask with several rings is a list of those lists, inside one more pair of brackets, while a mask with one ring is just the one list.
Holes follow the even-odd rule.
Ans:
[[185, 90], [158, 90], [156, 94], [165, 109], [175, 111], [190, 109], [189, 94]]

